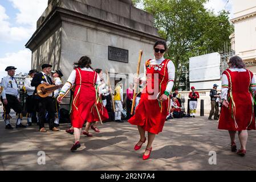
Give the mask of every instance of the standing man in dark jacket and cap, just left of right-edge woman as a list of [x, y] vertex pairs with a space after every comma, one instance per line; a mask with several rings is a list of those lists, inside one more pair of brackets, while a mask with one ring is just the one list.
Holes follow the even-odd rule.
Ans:
[[[210, 90], [211, 110], [210, 110], [210, 115], [208, 118], [209, 120], [213, 120], [212, 119], [213, 114], [214, 114], [214, 119], [218, 120], [219, 104], [216, 101], [216, 99], [220, 96], [217, 94], [217, 87], [218, 87], [218, 85], [214, 84], [213, 89]], [[215, 112], [214, 112], [214, 109], [215, 109]]]

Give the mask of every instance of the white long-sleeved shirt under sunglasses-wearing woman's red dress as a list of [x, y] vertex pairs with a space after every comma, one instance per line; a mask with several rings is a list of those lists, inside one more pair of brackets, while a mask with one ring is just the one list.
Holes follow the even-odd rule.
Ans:
[[[152, 65], [156, 65], [156, 64], [161, 64], [162, 61], [164, 61], [164, 57], [161, 57], [161, 59], [156, 60], [150, 60], [149, 63]], [[167, 71], [168, 71], [168, 80], [172, 80], [169, 81], [167, 86], [166, 86], [166, 91], [167, 92], [172, 92], [172, 88], [174, 85], [174, 77], [175, 77], [175, 67], [172, 61], [169, 61], [169, 63], [167, 64]], [[145, 84], [145, 82], [147, 81], [147, 68], [146, 66], [144, 67], [144, 76], [141, 78], [141, 84]]]

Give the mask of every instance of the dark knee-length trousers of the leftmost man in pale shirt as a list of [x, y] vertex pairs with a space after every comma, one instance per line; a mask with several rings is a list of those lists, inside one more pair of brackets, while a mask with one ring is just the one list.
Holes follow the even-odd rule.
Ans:
[[[17, 97], [12, 96], [10, 94], [6, 94], [7, 105], [3, 104], [3, 115], [6, 118], [6, 115], [10, 114], [11, 109], [13, 109], [16, 113], [22, 114], [22, 105], [19, 104]], [[1, 96], [1, 101], [3, 103], [3, 98]]]

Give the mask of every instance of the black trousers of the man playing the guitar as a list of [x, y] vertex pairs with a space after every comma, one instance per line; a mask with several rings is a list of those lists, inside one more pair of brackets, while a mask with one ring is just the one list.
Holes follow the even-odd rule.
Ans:
[[46, 123], [46, 111], [48, 113], [49, 118], [49, 129], [54, 128], [54, 120], [55, 120], [55, 107], [54, 107], [54, 99], [52, 97], [40, 98], [38, 101], [38, 119], [39, 119], [39, 128], [42, 129], [44, 127], [44, 123]]

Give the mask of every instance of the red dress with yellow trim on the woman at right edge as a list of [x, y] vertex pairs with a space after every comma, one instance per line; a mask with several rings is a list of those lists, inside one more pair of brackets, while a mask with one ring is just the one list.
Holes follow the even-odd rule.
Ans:
[[218, 129], [229, 131], [255, 130], [253, 96], [249, 90], [253, 73], [224, 71], [229, 80], [227, 100], [222, 106]]

